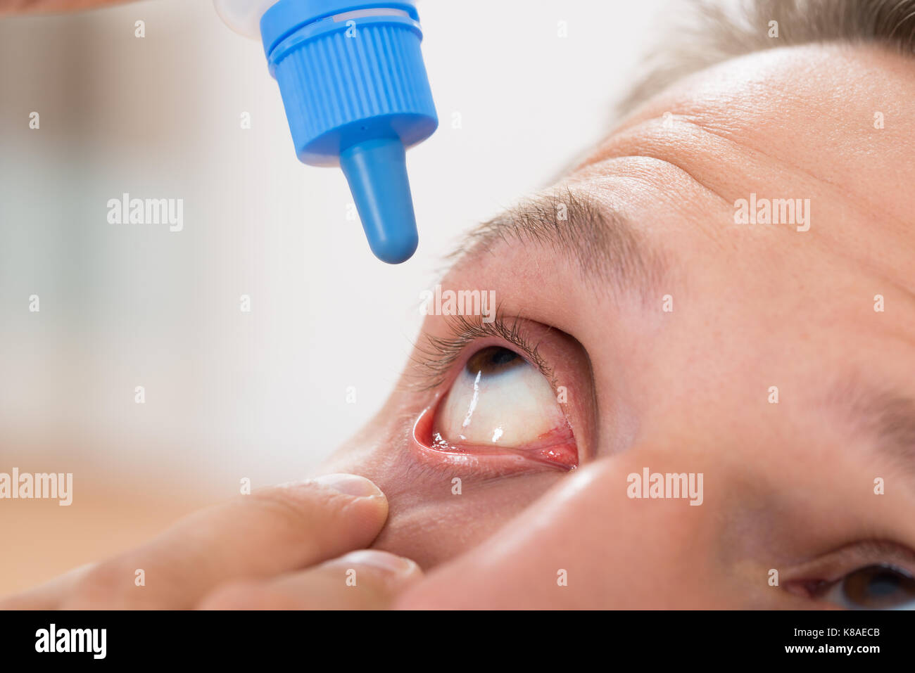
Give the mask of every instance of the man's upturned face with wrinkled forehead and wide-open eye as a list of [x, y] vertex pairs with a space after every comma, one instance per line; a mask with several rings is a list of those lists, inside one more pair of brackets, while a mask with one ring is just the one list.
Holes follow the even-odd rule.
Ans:
[[[588, 573], [587, 604], [862, 604], [844, 577], [915, 573], [912, 101], [888, 53], [732, 60], [479, 232], [442, 288], [494, 291], [500, 320], [429, 315], [327, 465], [388, 495], [375, 546], [436, 566], [553, 488], [518, 549]], [[631, 497], [645, 468], [701, 497]]]

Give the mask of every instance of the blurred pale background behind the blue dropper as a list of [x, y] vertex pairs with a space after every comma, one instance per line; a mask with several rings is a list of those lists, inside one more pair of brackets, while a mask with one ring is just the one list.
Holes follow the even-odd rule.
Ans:
[[[607, 130], [666, 6], [420, 3], [440, 126], [408, 154], [420, 246], [397, 267], [346, 219], [342, 174], [298, 163], [261, 45], [210, 0], [0, 20], [0, 472], [75, 481], [70, 508], [0, 502], [33, 531], [0, 593], [242, 476], [299, 477], [368, 420], [442, 256]], [[109, 224], [124, 192], [183, 198], [184, 230]], [[79, 550], [36, 566], [39, 511]]]

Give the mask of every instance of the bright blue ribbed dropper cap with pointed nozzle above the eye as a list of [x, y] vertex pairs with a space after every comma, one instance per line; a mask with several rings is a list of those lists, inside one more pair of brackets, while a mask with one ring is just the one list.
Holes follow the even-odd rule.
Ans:
[[340, 166], [371, 251], [410, 259], [418, 235], [405, 150], [438, 125], [412, 0], [279, 0], [261, 36], [298, 158]]

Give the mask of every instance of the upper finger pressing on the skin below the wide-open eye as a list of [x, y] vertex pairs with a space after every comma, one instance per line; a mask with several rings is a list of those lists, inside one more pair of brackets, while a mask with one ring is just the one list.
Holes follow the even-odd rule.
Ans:
[[381, 490], [357, 475], [255, 491], [97, 564], [64, 594], [60, 607], [192, 607], [232, 579], [269, 577], [367, 547], [387, 511]]

